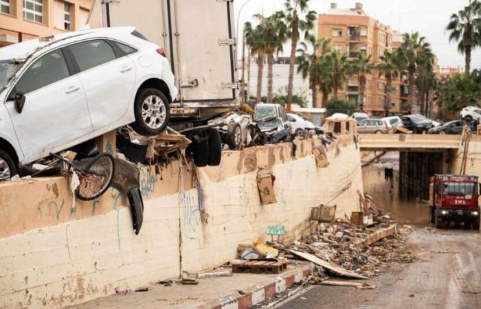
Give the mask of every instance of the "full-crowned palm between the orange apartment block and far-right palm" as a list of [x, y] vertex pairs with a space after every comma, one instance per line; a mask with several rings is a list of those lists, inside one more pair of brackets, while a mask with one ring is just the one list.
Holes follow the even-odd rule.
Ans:
[[407, 85], [409, 88], [407, 101], [411, 107], [416, 105], [416, 84], [414, 79], [418, 71], [418, 65], [423, 62], [426, 54], [432, 54], [432, 52], [424, 36], [419, 36], [418, 32], [403, 34], [403, 43], [397, 49], [397, 56], [401, 61], [401, 66], [407, 69]]

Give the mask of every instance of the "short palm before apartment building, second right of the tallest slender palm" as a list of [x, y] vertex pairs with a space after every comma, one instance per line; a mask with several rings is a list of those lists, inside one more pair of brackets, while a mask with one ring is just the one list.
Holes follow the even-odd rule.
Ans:
[[351, 72], [347, 54], [339, 54], [337, 50], [333, 50], [326, 56], [326, 69], [333, 83], [334, 98], [337, 98], [339, 89], [342, 88]]

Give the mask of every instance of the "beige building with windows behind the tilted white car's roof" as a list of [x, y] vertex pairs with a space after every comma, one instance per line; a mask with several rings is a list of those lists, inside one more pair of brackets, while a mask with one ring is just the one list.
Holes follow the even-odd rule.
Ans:
[[0, 0], [0, 47], [79, 30], [93, 0]]

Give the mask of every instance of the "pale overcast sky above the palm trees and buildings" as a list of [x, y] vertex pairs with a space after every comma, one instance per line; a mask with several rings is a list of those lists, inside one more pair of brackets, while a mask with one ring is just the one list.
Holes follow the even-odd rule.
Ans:
[[[235, 18], [240, 7], [246, 0], [234, 1]], [[258, 12], [271, 14], [282, 10], [284, 0], [248, 0], [240, 12], [239, 27], [242, 31], [245, 21], [252, 21], [252, 15]], [[330, 3], [334, 1], [311, 0], [311, 10], [326, 13]], [[441, 67], [464, 67], [464, 57], [458, 53], [456, 43], [449, 44], [445, 27], [449, 16], [461, 10], [469, 0], [338, 0], [337, 8], [353, 8], [355, 2], [362, 2], [366, 14], [381, 23], [388, 24], [392, 30], [401, 32], [419, 31], [432, 44]], [[241, 35], [241, 34], [240, 34]], [[285, 52], [289, 52], [287, 49]], [[241, 52], [239, 50], [238, 56]], [[472, 56], [472, 68], [481, 67], [481, 49], [477, 49]]]

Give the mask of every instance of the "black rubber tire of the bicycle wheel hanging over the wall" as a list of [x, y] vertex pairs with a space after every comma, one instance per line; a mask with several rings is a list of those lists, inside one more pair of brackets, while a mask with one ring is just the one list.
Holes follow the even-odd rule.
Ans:
[[[93, 191], [92, 194], [89, 195], [86, 195], [86, 192], [83, 192], [84, 187], [82, 187], [82, 181], [80, 181], [80, 185], [75, 190], [75, 196], [80, 201], [92, 201], [96, 198], [99, 198], [109, 189], [113, 181], [113, 176], [115, 175], [115, 161], [113, 160], [112, 155], [110, 155], [109, 153], [103, 152], [100, 155], [93, 157], [93, 159], [81, 160], [78, 162], [78, 165], [83, 166], [87, 170], [99, 172], [98, 170], [96, 170], [100, 166], [98, 165], [98, 163], [103, 164], [103, 166], [107, 168], [106, 170], [104, 170], [105, 172], [107, 172], [107, 174], [105, 175], [107, 176], [107, 180], [101, 183], [101, 187], [98, 190]], [[86, 184], [88, 184], [88, 182], [86, 182]]]

